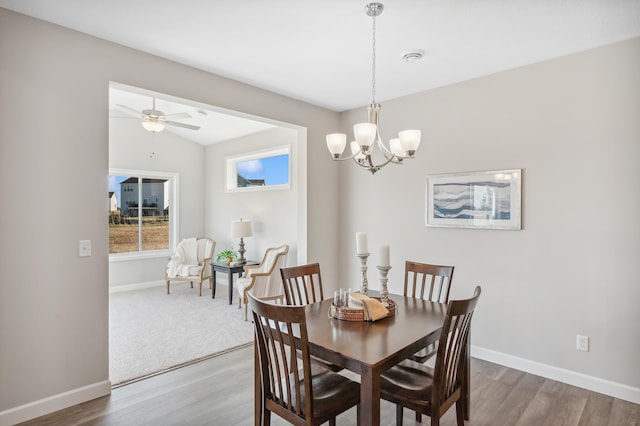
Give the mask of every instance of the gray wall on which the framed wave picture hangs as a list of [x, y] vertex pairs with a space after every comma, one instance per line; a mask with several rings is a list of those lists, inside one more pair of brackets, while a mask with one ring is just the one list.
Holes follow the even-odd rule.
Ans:
[[[422, 145], [374, 176], [340, 165], [341, 276], [359, 282], [357, 231], [369, 235], [371, 286], [382, 243], [394, 293], [405, 259], [455, 265], [452, 297], [483, 287], [476, 356], [640, 402], [639, 76], [633, 39], [383, 102], [383, 138], [417, 127]], [[523, 169], [521, 231], [424, 226], [427, 175], [507, 168]]]

